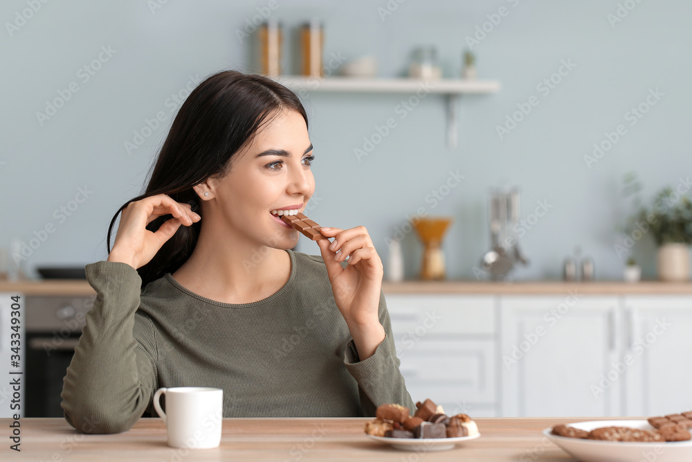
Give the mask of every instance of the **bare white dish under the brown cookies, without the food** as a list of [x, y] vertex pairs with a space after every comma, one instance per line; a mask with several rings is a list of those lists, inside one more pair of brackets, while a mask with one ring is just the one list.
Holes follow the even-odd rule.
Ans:
[[[653, 430], [646, 420], [592, 420], [590, 422], [566, 423], [568, 427], [590, 432], [600, 427], [630, 427], [640, 430]], [[692, 441], [671, 443], [635, 443], [629, 441], [597, 441], [581, 438], [567, 438], [550, 434], [552, 428], [543, 430], [550, 441], [560, 446], [582, 462], [690, 462], [692, 461]]]

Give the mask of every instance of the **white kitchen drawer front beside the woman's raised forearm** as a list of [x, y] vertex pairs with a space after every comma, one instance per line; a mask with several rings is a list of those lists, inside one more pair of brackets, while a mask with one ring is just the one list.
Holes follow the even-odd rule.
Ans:
[[430, 398], [450, 415], [497, 415], [495, 297], [397, 294], [386, 300], [413, 400]]

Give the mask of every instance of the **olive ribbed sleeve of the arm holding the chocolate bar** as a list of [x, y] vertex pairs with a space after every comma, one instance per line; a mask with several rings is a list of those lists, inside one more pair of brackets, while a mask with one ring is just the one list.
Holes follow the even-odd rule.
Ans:
[[416, 405], [406, 390], [403, 375], [399, 371], [401, 361], [397, 357], [397, 348], [394, 346], [392, 322], [382, 291], [380, 291], [378, 315], [385, 330], [385, 339], [377, 346], [375, 353], [363, 361], [358, 359], [356, 344], [351, 339], [344, 352], [344, 364], [358, 382], [363, 416], [374, 417], [377, 407], [388, 403], [406, 406], [413, 415]]

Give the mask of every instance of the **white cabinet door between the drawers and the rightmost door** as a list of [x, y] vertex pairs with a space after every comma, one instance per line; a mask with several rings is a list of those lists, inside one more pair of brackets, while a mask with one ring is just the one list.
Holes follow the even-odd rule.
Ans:
[[618, 323], [617, 296], [500, 297], [500, 415], [618, 415]]

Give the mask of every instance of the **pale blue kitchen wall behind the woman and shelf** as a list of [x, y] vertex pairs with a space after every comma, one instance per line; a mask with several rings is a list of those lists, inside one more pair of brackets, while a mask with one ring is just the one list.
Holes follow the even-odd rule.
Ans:
[[[364, 224], [385, 260], [385, 237], [407, 214], [427, 206], [433, 215], [451, 215], [455, 223], [444, 245], [448, 273], [473, 278], [472, 267], [489, 245], [488, 190], [516, 184], [522, 189], [523, 215], [539, 200], [553, 204], [522, 238], [531, 265], [516, 278], [558, 277], [575, 245], [594, 258], [599, 277], [619, 278], [623, 259], [614, 244], [621, 242], [616, 228], [626, 215], [618, 195], [623, 173], [639, 172], [650, 196], [692, 170], [687, 127], [692, 4], [628, 1], [635, 8], [613, 27], [608, 14], [616, 12], [617, 1], [407, 0], [382, 21], [377, 8], [387, 4], [384, 0], [278, 0], [273, 15], [284, 30], [320, 17], [327, 55], [374, 54], [381, 76], [406, 69], [411, 49], [420, 44], [435, 44], [446, 75], [457, 75], [465, 37], [501, 6], [508, 12], [474, 47], [480, 78], [500, 80], [502, 90], [464, 98], [455, 150], [445, 145], [441, 96], [429, 96], [403, 120], [394, 112], [403, 95], [313, 94], [306, 101], [322, 198], [311, 216], [325, 226]], [[55, 232], [29, 258], [30, 269], [105, 257], [110, 217], [139, 193], [167, 127], [158, 128], [131, 155], [123, 143], [145, 118], [158, 111], [170, 114], [166, 100], [185, 87], [189, 75], [248, 69], [248, 48], [234, 30], [269, 2], [240, 3], [170, 0], [152, 14], [144, 0], [49, 1], [10, 37], [6, 23], [28, 6], [26, 0], [3, 1], [0, 245], [15, 237], [28, 241], [53, 223]], [[116, 53], [83, 82], [78, 69], [98, 57], [101, 46]], [[293, 49], [286, 51], [295, 56]], [[545, 96], [536, 86], [558, 71], [561, 60], [576, 67]], [[35, 113], [73, 81], [79, 91], [39, 125]], [[630, 127], [625, 113], [655, 88], [664, 96]], [[500, 140], [496, 125], [531, 95], [540, 100], [538, 106]], [[397, 127], [358, 162], [354, 148], [389, 117], [397, 117]], [[583, 156], [620, 123], [627, 134], [587, 168]], [[446, 181], [450, 170], [465, 178], [431, 208], [426, 195]], [[53, 211], [68, 204], [80, 186], [93, 193], [61, 223]], [[319, 252], [307, 241], [299, 249]], [[420, 253], [413, 233], [404, 250], [412, 276]], [[637, 245], [645, 276], [655, 274], [654, 251], [649, 240]]]

